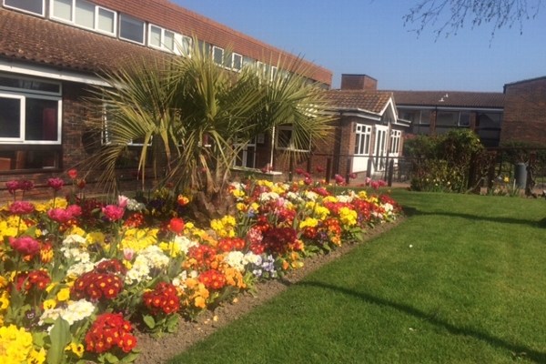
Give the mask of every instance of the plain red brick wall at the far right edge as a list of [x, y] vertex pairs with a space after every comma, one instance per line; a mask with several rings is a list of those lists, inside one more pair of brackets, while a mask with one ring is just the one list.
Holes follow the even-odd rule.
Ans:
[[505, 87], [501, 144], [546, 145], [546, 77]]

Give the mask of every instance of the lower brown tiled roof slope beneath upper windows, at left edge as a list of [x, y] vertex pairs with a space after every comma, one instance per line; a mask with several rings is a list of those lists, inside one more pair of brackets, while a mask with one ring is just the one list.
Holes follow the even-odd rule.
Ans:
[[163, 52], [0, 8], [0, 57], [96, 74]]

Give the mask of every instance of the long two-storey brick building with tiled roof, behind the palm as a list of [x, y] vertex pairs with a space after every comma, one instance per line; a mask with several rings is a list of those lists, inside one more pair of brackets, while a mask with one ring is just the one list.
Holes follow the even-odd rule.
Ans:
[[[187, 56], [195, 37], [233, 72], [298, 60], [166, 0], [3, 0], [0, 34], [0, 188], [14, 178], [44, 187], [92, 153], [82, 98], [132, 58]], [[301, 76], [329, 88], [328, 69], [301, 62]]]

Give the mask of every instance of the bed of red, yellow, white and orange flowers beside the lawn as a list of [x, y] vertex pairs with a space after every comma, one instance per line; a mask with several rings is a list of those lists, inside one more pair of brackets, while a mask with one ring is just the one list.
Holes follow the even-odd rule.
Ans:
[[234, 214], [197, 227], [186, 218], [189, 198], [167, 188], [107, 204], [56, 197], [61, 178], [49, 186], [54, 198], [31, 203], [17, 198], [31, 182], [8, 183], [1, 362], [133, 361], [134, 329], [174, 332], [180, 316], [196, 318], [400, 212], [390, 197], [364, 190], [336, 195], [308, 181], [258, 180], [230, 185]]

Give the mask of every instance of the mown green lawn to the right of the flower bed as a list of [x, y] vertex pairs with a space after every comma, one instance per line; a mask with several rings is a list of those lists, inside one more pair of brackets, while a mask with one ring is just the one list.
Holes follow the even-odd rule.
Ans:
[[393, 196], [399, 227], [172, 363], [546, 363], [546, 201]]

